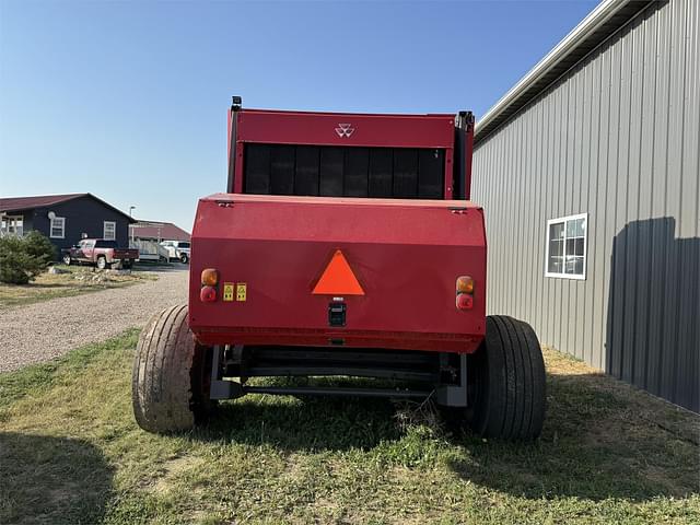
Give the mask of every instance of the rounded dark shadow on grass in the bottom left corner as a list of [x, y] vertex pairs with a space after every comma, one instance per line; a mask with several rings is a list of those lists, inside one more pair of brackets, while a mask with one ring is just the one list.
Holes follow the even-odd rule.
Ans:
[[100, 523], [112, 479], [85, 441], [0, 432], [0, 523]]

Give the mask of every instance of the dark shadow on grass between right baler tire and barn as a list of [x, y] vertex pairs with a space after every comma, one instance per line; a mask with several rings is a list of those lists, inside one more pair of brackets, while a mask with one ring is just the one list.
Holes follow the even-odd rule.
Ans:
[[700, 493], [700, 418], [603, 374], [548, 375], [532, 444], [462, 435], [463, 479], [530, 500], [650, 501]]

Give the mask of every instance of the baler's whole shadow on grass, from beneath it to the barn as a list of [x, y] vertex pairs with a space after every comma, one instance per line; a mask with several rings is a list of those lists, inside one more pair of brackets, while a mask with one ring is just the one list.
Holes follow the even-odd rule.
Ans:
[[417, 440], [411, 418], [401, 423], [401, 415], [415, 408], [374, 399], [248, 396], [223, 404], [195, 438], [283, 452], [361, 450], [389, 465], [429, 458], [446, 476], [533, 500], [700, 493], [700, 418], [603, 374], [548, 375], [547, 421], [534, 444], [485, 441], [451, 430], [440, 417], [420, 416], [412, 424], [431, 430]]

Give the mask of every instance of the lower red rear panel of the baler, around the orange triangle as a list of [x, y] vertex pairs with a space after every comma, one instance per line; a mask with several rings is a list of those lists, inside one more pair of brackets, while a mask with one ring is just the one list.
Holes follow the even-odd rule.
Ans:
[[[334, 298], [312, 291], [337, 249], [365, 295], [343, 298], [347, 324], [331, 328]], [[467, 201], [214, 195], [199, 202], [190, 264], [189, 323], [208, 345], [471, 352], [485, 334], [483, 214]], [[200, 302], [206, 267], [245, 283], [246, 300]], [[477, 288], [459, 311], [465, 275]]]

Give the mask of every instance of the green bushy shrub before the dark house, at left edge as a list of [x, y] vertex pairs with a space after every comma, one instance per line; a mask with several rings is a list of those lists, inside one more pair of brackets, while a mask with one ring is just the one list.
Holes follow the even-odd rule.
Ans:
[[46, 270], [55, 256], [54, 245], [39, 232], [0, 237], [0, 281], [26, 284]]

